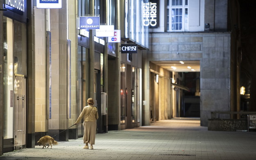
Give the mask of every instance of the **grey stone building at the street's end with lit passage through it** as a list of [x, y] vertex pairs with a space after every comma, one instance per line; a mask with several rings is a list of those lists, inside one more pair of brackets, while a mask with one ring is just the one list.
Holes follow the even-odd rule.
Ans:
[[[143, 100], [150, 102], [145, 108], [153, 112], [153, 121], [195, 116], [207, 126], [212, 111], [240, 111], [239, 62], [235, 58], [240, 40], [234, 34], [237, 30], [231, 29], [239, 22], [230, 20], [229, 14], [235, 15], [236, 9], [236, 2], [228, 0], [159, 1], [159, 27], [150, 29], [150, 50], [143, 57], [143, 85], [147, 88], [143, 91], [150, 91]], [[156, 76], [167, 75], [170, 93], [161, 91], [161, 81], [152, 83]], [[162, 102], [171, 111], [166, 113]], [[163, 117], [165, 114], [168, 116]]]

